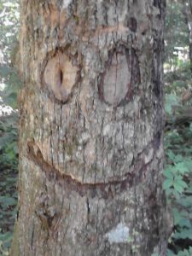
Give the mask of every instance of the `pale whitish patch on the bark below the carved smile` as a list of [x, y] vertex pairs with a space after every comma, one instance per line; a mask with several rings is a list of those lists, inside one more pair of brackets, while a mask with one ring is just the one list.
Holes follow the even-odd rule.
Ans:
[[119, 223], [113, 230], [109, 231], [105, 237], [110, 244], [119, 242], [128, 242], [129, 228], [125, 224]]

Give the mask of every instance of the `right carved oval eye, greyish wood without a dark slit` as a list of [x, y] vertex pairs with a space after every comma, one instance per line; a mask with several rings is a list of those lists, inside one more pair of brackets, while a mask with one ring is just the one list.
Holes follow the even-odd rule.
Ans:
[[138, 58], [134, 49], [121, 47], [113, 51], [106, 72], [99, 84], [100, 99], [109, 105], [119, 106], [131, 101], [134, 86], [140, 82]]

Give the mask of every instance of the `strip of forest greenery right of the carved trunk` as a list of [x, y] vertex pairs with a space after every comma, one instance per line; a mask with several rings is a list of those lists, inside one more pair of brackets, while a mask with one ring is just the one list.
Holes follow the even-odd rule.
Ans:
[[[184, 1], [184, 4], [188, 1]], [[188, 7], [189, 8], [189, 7]], [[164, 189], [172, 207], [174, 229], [168, 256], [192, 254], [192, 100], [189, 31], [182, 1], [166, 4], [165, 31], [165, 151]], [[186, 97], [186, 94], [188, 95]], [[184, 99], [185, 98], [185, 99]]]

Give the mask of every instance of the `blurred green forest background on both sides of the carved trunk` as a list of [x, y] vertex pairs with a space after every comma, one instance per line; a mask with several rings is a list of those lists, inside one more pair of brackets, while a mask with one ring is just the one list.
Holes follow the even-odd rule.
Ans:
[[[9, 255], [17, 214], [18, 111], [22, 81], [18, 0], [0, 2], [0, 255]], [[173, 216], [168, 256], [192, 255], [192, 1], [167, 0], [164, 189]], [[153, 255], [157, 256], [157, 255]]]

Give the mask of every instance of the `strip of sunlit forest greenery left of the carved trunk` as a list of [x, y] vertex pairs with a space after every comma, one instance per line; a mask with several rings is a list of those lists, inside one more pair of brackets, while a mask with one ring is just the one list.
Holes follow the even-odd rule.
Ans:
[[0, 1], [0, 255], [9, 255], [17, 212], [17, 93], [21, 82], [11, 59], [19, 31], [19, 3]]

